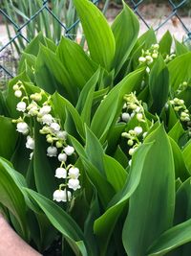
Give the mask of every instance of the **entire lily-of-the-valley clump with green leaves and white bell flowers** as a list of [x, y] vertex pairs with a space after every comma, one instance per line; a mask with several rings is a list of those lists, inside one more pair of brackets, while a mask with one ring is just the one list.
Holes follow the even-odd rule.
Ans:
[[1, 212], [43, 255], [188, 256], [191, 53], [74, 6], [87, 47], [37, 35], [0, 93]]

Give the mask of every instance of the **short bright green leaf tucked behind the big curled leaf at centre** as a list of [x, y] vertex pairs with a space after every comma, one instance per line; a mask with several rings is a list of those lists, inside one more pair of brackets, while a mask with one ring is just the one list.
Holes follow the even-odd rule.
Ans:
[[117, 160], [109, 155], [103, 156], [103, 163], [107, 180], [113, 186], [116, 192], [120, 191], [124, 187], [127, 179], [127, 172], [117, 162]]

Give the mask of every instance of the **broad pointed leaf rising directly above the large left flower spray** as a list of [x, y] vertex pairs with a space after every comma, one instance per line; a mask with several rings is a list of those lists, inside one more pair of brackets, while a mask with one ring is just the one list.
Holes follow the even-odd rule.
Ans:
[[57, 90], [73, 103], [77, 90], [70, 74], [56, 55], [41, 45], [35, 64], [35, 79], [38, 86], [49, 93]]

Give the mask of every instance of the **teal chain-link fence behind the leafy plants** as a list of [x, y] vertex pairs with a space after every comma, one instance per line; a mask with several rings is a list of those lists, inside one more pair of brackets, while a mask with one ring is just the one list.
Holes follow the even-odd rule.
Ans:
[[[93, 2], [97, 4], [100, 0], [93, 0]], [[145, 2], [145, 0], [127, 1], [134, 12], [138, 14], [140, 21], [149, 29], [153, 24], [150, 24], [141, 12]], [[180, 16], [180, 10], [189, 4], [190, 0], [168, 0], [165, 2], [168, 5], [169, 13], [159, 20], [154, 26], [154, 30], [159, 32], [169, 20], [175, 23], [175, 27], [176, 22], [179, 22], [184, 31], [184, 40], [190, 40], [191, 18], [186, 23]], [[77, 35], [80, 35], [80, 27], [74, 6], [71, 3], [72, 1], [65, 0], [2, 0], [0, 2], [0, 35], [8, 33], [2, 42], [0, 37], [0, 78], [4, 78], [5, 81], [15, 75], [16, 64], [12, 63], [16, 63], [16, 58], [19, 58], [22, 50], [39, 31], [43, 30], [43, 34], [52, 38], [55, 43], [59, 41], [61, 35], [77, 40]], [[105, 7], [109, 3], [110, 1], [106, 0]], [[17, 53], [16, 57], [15, 52]]]

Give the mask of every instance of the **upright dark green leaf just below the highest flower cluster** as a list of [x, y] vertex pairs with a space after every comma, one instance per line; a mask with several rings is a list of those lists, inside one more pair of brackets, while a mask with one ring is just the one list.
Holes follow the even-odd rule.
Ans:
[[156, 60], [149, 77], [149, 90], [152, 97], [151, 111], [160, 114], [162, 107], [168, 99], [169, 74], [168, 69], [159, 56]]

